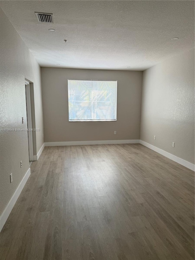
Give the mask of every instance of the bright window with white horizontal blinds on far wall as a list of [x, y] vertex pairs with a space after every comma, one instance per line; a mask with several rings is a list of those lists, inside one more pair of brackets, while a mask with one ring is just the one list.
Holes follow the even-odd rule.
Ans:
[[69, 121], [116, 121], [117, 81], [68, 80]]

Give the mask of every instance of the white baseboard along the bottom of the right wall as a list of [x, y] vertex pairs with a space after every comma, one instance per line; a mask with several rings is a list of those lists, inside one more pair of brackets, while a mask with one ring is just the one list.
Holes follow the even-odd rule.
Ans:
[[194, 171], [194, 169], [195, 169], [195, 165], [193, 163], [188, 162], [188, 161], [186, 161], [182, 158], [179, 158], [176, 155], [170, 154], [170, 153], [168, 153], [168, 152], [166, 152], [166, 151], [164, 151], [164, 150], [162, 150], [162, 149], [160, 149], [160, 148], [158, 148], [158, 147], [156, 147], [152, 144], [148, 144], [148, 143], [146, 143], [142, 140], [140, 140], [140, 144], [143, 144], [144, 146], [150, 148], [151, 150], [154, 150], [155, 152], [158, 152], [159, 154], [164, 155], [165, 157], [171, 159], [174, 162], [177, 162], [177, 163], [185, 166], [186, 168], [188, 168], [190, 170]]

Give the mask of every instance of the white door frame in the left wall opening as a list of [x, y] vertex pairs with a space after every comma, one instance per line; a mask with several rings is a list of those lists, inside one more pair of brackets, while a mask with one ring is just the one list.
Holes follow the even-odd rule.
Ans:
[[[25, 80], [26, 104], [27, 104], [27, 128], [32, 129], [32, 113], [30, 99], [30, 82]], [[28, 131], [29, 161], [33, 161], [33, 132]]]

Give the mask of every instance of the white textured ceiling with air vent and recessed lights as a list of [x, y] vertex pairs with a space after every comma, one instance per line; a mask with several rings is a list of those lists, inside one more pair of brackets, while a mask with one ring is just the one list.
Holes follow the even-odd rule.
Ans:
[[[0, 2], [41, 66], [144, 70], [194, 48], [194, 1]], [[34, 12], [53, 13], [54, 24]]]

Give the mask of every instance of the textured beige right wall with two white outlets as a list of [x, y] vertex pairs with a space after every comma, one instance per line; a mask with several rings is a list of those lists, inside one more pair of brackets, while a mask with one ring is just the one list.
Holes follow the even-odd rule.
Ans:
[[194, 50], [144, 71], [140, 139], [194, 163]]

